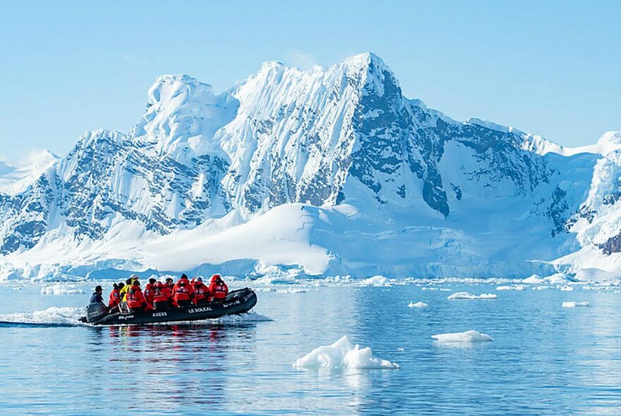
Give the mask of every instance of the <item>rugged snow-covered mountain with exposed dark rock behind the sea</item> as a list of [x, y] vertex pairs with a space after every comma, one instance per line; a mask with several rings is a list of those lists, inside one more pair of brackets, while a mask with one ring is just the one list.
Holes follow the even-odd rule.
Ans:
[[404, 97], [374, 54], [264, 63], [222, 94], [162, 75], [130, 132], [85, 133], [0, 194], [0, 254], [5, 275], [38, 277], [551, 272], [585, 247], [620, 251], [606, 211], [621, 195], [620, 137], [572, 151], [454, 121]]

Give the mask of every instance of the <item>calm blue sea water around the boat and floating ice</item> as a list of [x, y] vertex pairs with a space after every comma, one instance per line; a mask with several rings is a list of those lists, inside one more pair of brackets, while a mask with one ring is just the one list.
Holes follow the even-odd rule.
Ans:
[[[495, 286], [442, 285], [472, 293], [495, 293]], [[80, 307], [90, 294], [87, 286], [85, 295], [40, 295], [39, 283], [15, 287], [0, 286], [0, 320]], [[620, 293], [497, 293], [496, 300], [447, 300], [450, 292], [415, 284], [322, 287], [258, 293], [255, 312], [269, 322], [0, 324], [0, 413], [621, 413]], [[429, 307], [407, 307], [419, 300]], [[563, 308], [565, 300], [591, 307]], [[430, 338], [469, 329], [495, 341], [442, 345]], [[401, 368], [291, 367], [345, 334]]]

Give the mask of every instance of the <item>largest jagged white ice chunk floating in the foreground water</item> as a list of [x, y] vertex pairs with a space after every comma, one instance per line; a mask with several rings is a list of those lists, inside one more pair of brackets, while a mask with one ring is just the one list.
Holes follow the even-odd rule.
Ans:
[[310, 351], [293, 364], [296, 368], [342, 368], [342, 369], [397, 369], [396, 362], [380, 360], [372, 355], [369, 347], [351, 345], [347, 336], [331, 345], [323, 345]]

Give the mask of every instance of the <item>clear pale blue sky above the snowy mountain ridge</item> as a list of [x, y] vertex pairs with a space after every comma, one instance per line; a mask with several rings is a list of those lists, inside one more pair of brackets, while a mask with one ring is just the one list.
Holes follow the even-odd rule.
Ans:
[[0, 155], [126, 132], [157, 75], [224, 90], [263, 61], [373, 51], [404, 94], [563, 145], [621, 130], [621, 1], [13, 1], [0, 15]]

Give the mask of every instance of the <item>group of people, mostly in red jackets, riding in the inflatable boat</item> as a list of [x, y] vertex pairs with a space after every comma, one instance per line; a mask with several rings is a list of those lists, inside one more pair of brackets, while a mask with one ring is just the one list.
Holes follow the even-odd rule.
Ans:
[[[104, 303], [101, 286], [95, 288], [95, 293], [90, 298], [90, 303]], [[203, 283], [203, 278], [195, 277], [188, 279], [182, 274], [179, 281], [173, 282], [172, 278], [166, 281], [149, 279], [143, 291], [140, 287], [138, 276], [132, 274], [125, 283], [114, 283], [110, 292], [108, 309], [110, 312], [121, 310], [127, 305], [130, 312], [140, 310], [165, 310], [169, 307], [184, 307], [189, 305], [202, 305], [205, 302], [218, 302], [224, 300], [229, 294], [229, 287], [224, 283], [222, 276], [211, 276], [209, 286]]]

